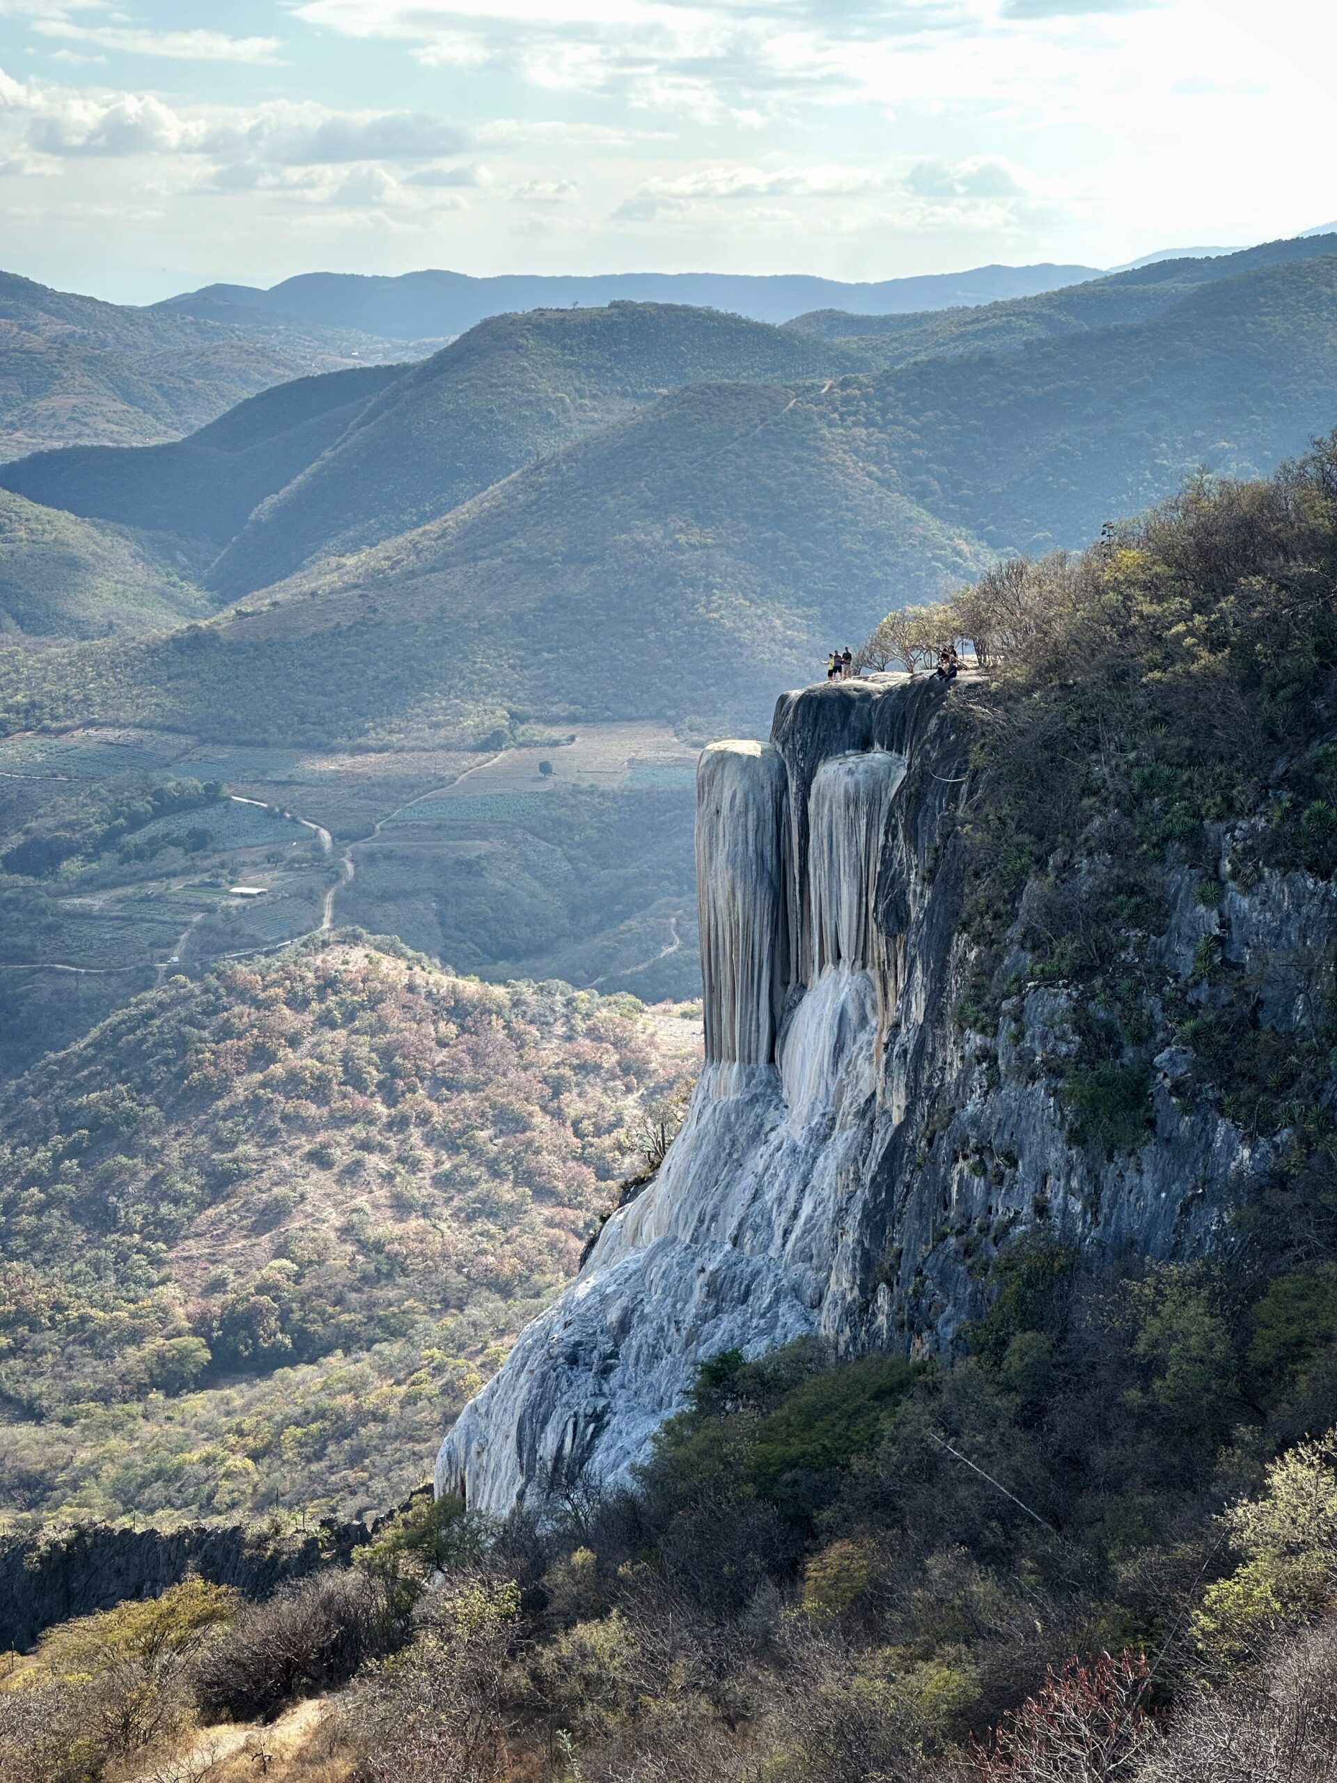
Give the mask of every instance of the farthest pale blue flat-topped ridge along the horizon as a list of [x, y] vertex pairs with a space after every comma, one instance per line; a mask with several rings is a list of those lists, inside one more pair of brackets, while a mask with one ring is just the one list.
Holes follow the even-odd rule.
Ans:
[[257, 285], [205, 285], [201, 291], [166, 298], [155, 308], [226, 314], [232, 319], [234, 308], [250, 307], [308, 325], [360, 328], [373, 335], [412, 341], [463, 333], [488, 316], [508, 310], [603, 305], [617, 300], [710, 305], [768, 323], [781, 323], [818, 305], [857, 310], [945, 308], [952, 303], [991, 303], [997, 298], [1052, 291], [1091, 278], [1095, 271], [1089, 266], [979, 266], [968, 273], [927, 273], [875, 283], [845, 283], [806, 273], [608, 273], [592, 278], [471, 278], [444, 271], [403, 273], [398, 278], [301, 273], [269, 291]]

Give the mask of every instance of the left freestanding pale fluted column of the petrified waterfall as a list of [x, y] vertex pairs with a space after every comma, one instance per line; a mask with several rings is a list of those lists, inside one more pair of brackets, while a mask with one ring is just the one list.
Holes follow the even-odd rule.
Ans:
[[783, 997], [784, 763], [711, 744], [697, 768], [697, 904], [708, 1064], [770, 1064]]

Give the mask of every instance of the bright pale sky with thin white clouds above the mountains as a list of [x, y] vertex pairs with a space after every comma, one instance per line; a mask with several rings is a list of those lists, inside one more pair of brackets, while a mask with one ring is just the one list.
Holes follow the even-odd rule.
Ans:
[[1333, 0], [0, 0], [0, 267], [895, 278], [1337, 218]]

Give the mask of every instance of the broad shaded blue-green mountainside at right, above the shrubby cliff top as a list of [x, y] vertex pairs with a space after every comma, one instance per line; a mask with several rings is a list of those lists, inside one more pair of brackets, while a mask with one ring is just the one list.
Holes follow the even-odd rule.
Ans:
[[1164, 316], [843, 380], [825, 401], [907, 496], [997, 547], [1075, 544], [1198, 465], [1267, 474], [1337, 421], [1337, 255]]

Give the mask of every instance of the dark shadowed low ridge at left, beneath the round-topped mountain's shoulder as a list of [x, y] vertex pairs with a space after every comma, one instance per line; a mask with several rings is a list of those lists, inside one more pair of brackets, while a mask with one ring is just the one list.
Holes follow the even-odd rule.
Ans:
[[401, 366], [294, 378], [166, 446], [70, 446], [0, 465], [0, 487], [96, 519], [226, 544], [332, 446]]

